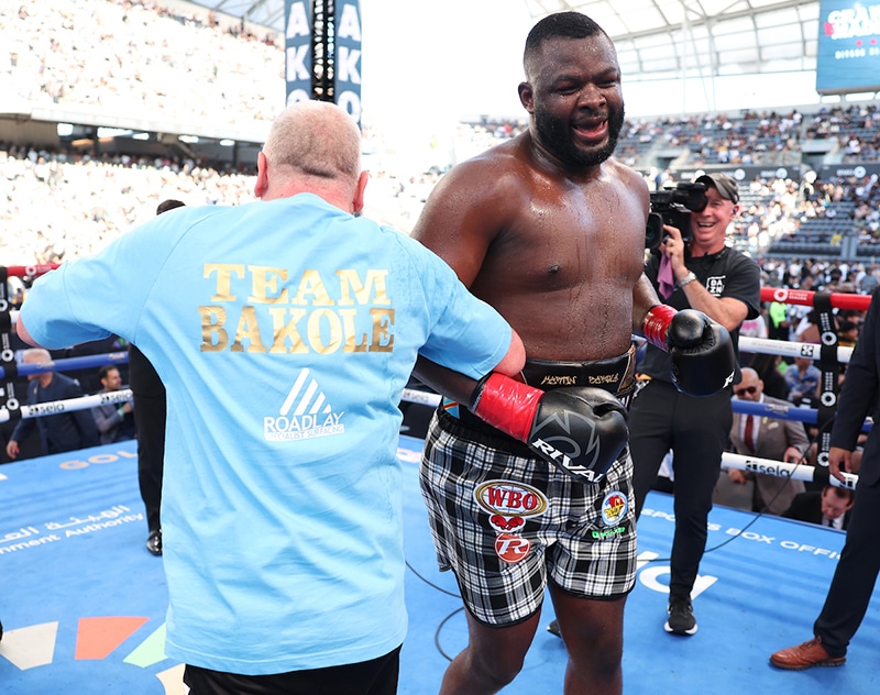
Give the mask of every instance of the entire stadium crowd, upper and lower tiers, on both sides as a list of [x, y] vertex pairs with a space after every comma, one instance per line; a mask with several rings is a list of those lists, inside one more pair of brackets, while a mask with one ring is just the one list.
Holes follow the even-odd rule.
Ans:
[[[270, 30], [261, 34], [207, 8], [168, 9], [150, 0], [0, 0], [0, 89], [9, 102], [74, 104], [108, 117], [195, 118], [206, 125], [222, 119], [227, 128], [267, 123], [282, 106], [283, 37]], [[454, 150], [472, 155], [524, 128], [524, 119], [462, 124]], [[370, 142], [371, 134], [365, 135]], [[676, 168], [791, 164], [801, 162], [802, 143], [834, 140], [829, 156], [865, 162], [877, 159], [878, 137], [880, 114], [872, 103], [811, 112], [745, 110], [629, 119], [617, 156], [639, 170], [651, 168], [651, 153], [658, 150], [681, 153]], [[246, 172], [231, 174], [193, 159], [0, 151], [7, 153], [0, 152], [0, 175], [9, 181], [0, 207], [9, 234], [0, 252], [9, 262], [91, 253], [148, 214], [163, 196], [185, 198], [188, 205], [235, 203], [250, 199], [252, 187]], [[409, 231], [447, 165], [429, 172], [373, 172], [372, 212]], [[732, 236], [756, 257], [778, 242], [839, 246], [846, 233], [858, 235], [865, 246], [877, 245], [878, 189], [877, 176], [858, 181], [756, 179], [744, 195]], [[835, 220], [834, 225], [820, 224]]]

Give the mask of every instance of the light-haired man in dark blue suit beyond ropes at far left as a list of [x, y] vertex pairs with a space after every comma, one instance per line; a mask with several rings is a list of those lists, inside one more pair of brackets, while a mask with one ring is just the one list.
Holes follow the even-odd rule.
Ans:
[[[41, 364], [52, 362], [47, 350], [25, 350], [22, 363]], [[28, 375], [28, 405], [67, 400], [84, 396], [79, 382], [64, 374], [55, 372], [40, 372]], [[12, 431], [7, 443], [7, 454], [15, 459], [20, 452], [20, 442], [37, 428], [43, 451], [47, 454], [57, 454], [74, 451], [86, 446], [98, 445], [98, 426], [91, 410], [74, 410], [57, 415], [45, 415], [40, 418], [21, 420]]]

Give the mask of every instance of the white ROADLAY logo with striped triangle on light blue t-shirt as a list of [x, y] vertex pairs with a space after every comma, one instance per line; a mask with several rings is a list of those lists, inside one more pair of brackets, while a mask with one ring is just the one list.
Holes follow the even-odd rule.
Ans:
[[333, 409], [305, 368], [290, 387], [277, 416], [263, 418], [263, 437], [268, 441], [294, 441], [342, 434], [345, 426], [341, 423], [343, 412]]

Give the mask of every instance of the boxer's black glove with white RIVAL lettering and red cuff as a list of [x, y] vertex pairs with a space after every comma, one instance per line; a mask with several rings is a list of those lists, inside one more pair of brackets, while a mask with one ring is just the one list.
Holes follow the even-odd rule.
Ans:
[[476, 385], [469, 409], [583, 483], [605, 479], [629, 437], [626, 408], [600, 388], [542, 391], [492, 373]]

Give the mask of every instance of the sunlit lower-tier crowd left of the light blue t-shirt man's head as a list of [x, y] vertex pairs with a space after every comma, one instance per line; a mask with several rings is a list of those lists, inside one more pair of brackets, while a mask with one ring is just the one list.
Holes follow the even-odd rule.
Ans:
[[145, 221], [165, 198], [187, 205], [253, 200], [254, 178], [193, 161], [0, 146], [0, 257], [6, 265], [90, 255]]

